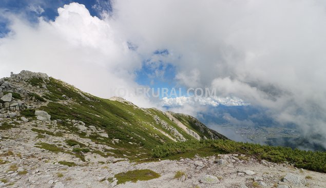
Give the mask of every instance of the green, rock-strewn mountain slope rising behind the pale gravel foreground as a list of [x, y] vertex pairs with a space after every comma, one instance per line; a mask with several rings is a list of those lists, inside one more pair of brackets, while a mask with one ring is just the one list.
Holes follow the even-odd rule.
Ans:
[[[59, 128], [119, 148], [119, 155], [130, 158], [147, 157], [151, 148], [165, 142], [227, 139], [191, 116], [139, 108], [119, 97], [101, 99], [44, 73], [22, 71], [2, 82], [8, 85], [3, 92], [14, 94], [9, 106], [21, 104], [21, 115], [34, 117], [35, 110], [44, 110]], [[176, 123], [180, 116], [185, 124]]]

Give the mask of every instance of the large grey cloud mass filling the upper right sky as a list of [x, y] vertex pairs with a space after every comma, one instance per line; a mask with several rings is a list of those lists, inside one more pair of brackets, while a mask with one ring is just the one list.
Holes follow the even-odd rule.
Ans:
[[172, 62], [180, 83], [266, 107], [280, 124], [295, 123], [326, 147], [325, 7], [294, 0], [117, 1], [113, 12], [140, 53], [159, 47], [180, 57]]

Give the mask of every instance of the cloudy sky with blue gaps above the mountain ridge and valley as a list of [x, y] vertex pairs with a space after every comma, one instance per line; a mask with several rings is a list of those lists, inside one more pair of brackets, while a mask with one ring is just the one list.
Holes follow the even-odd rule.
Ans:
[[103, 98], [215, 88], [213, 98], [125, 98], [196, 117], [256, 106], [326, 147], [324, 33], [320, 0], [0, 0], [0, 77], [45, 72]]

